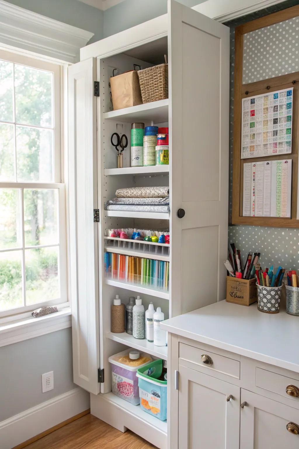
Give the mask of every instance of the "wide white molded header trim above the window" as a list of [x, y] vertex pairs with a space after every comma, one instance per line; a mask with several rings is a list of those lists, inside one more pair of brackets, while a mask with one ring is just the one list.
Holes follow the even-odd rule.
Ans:
[[4, 46], [74, 63], [93, 35], [0, 0], [0, 44]]

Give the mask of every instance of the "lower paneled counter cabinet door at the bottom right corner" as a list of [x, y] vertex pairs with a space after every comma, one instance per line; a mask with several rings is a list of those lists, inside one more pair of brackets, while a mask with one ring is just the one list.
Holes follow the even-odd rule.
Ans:
[[242, 389], [240, 449], [266, 448], [299, 448], [299, 410]]

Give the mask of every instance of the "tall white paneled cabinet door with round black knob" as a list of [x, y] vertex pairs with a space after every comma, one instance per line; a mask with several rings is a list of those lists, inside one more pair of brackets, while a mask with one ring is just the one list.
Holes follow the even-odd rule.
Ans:
[[225, 298], [230, 30], [173, 0], [168, 20], [175, 316]]

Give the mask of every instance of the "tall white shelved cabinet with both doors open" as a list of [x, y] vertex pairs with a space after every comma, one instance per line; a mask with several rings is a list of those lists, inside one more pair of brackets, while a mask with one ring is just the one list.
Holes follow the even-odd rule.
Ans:
[[[81, 49], [69, 69], [69, 202], [74, 382], [91, 392], [91, 413], [119, 428], [129, 427], [166, 447], [167, 424], [139, 406], [115, 401], [108, 357], [128, 347], [167, 359], [126, 333], [113, 334], [110, 309], [140, 294], [165, 318], [225, 295], [228, 228], [229, 28], [173, 0], [168, 13]], [[110, 77], [164, 61], [168, 54], [169, 98], [113, 111]], [[94, 96], [94, 82], [98, 96]], [[169, 127], [169, 166], [130, 167], [131, 123]], [[122, 169], [111, 145], [126, 134]], [[169, 186], [170, 213], [107, 211], [122, 187]], [[100, 220], [93, 221], [94, 209]], [[178, 209], [185, 216], [179, 218]], [[169, 289], [125, 282], [105, 271], [106, 229], [168, 229]], [[138, 248], [137, 248], [138, 250]], [[147, 257], [149, 250], [140, 255]], [[138, 256], [132, 248], [121, 254]], [[153, 257], [152, 257], [153, 258]], [[198, 288], [198, 273], [213, 273]], [[216, 280], [216, 281], [215, 281]], [[98, 369], [101, 377], [98, 378]], [[104, 373], [104, 376], [103, 376]], [[100, 379], [100, 382], [99, 382]], [[100, 393], [100, 394], [98, 394]]]

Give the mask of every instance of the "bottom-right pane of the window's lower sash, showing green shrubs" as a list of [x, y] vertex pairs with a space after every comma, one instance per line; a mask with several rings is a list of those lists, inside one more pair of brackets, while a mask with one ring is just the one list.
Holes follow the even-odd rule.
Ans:
[[26, 304], [60, 297], [58, 247], [25, 250]]

